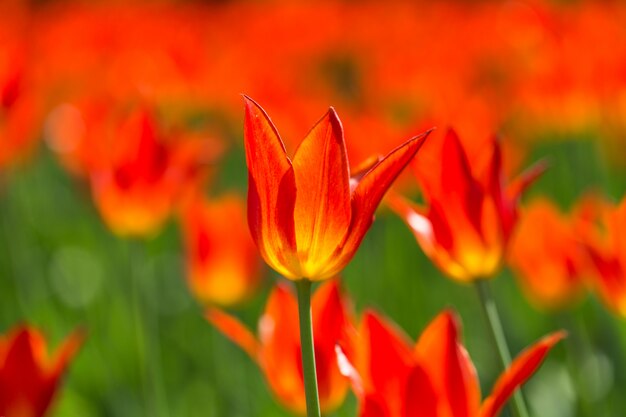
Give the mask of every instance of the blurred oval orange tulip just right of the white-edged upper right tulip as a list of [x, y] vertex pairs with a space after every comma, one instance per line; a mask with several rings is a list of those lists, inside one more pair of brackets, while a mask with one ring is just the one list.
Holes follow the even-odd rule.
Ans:
[[573, 219], [549, 200], [535, 200], [524, 209], [508, 259], [528, 296], [540, 305], [558, 308], [580, 295], [586, 254]]

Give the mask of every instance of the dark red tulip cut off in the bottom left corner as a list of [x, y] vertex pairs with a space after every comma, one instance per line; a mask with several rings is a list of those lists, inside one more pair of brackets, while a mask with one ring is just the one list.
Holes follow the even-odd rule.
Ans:
[[43, 416], [83, 337], [74, 332], [50, 358], [36, 329], [22, 326], [6, 338], [0, 336], [0, 416]]

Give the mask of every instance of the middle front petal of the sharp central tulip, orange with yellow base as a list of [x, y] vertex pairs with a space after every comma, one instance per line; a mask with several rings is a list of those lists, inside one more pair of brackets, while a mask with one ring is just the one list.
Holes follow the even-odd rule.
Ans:
[[293, 158], [298, 196], [294, 222], [302, 273], [315, 278], [350, 225], [350, 171], [335, 110], [311, 129]]

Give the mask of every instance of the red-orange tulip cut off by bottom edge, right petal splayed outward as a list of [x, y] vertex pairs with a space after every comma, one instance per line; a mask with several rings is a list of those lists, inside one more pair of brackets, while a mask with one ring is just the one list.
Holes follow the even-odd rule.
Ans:
[[564, 337], [556, 332], [522, 352], [482, 402], [474, 364], [455, 314], [439, 314], [414, 348], [392, 324], [365, 314], [355, 350], [338, 350], [360, 403], [360, 417], [495, 417]]

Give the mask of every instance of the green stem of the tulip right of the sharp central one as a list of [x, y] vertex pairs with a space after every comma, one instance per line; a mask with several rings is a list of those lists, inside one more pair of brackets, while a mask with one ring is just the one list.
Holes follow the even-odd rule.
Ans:
[[[500, 321], [500, 315], [498, 314], [495, 300], [491, 294], [489, 282], [486, 279], [479, 279], [475, 281], [475, 285], [492, 342], [498, 352], [502, 370], [505, 371], [511, 364], [511, 353], [506, 343], [502, 322]], [[517, 390], [513, 394], [511, 408], [516, 417], [528, 417], [528, 409], [526, 408], [521, 390]]]

